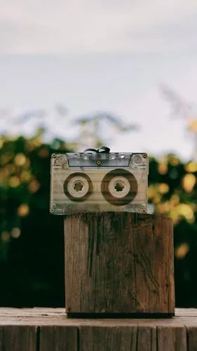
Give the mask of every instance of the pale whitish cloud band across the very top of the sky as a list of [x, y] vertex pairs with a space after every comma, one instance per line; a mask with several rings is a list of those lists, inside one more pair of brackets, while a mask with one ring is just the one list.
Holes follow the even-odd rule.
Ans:
[[185, 50], [196, 15], [196, 0], [1, 0], [0, 53]]

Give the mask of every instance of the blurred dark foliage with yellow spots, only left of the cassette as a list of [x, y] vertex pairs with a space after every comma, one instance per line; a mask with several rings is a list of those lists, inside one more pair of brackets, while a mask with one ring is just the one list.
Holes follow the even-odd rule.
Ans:
[[64, 305], [63, 219], [49, 214], [53, 140], [0, 138], [0, 305]]

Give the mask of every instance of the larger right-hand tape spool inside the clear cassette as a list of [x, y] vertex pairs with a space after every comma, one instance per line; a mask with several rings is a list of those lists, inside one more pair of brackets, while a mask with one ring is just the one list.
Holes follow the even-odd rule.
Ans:
[[125, 169], [109, 171], [101, 183], [104, 199], [114, 206], [125, 206], [137, 195], [137, 179]]

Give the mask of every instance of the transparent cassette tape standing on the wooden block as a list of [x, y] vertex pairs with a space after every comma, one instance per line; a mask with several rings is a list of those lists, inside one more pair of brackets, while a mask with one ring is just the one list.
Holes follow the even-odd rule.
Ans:
[[146, 213], [148, 173], [145, 153], [52, 154], [50, 213]]

